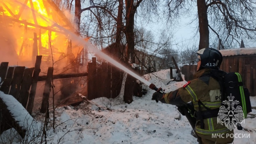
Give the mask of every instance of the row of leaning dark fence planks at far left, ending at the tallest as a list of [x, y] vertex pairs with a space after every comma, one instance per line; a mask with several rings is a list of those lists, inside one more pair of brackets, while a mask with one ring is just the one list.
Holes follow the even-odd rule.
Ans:
[[33, 109], [41, 60], [42, 56], [36, 56], [34, 68], [22, 66], [8, 68], [9, 62], [2, 62], [0, 66], [1, 83], [3, 82], [0, 91], [12, 95], [24, 108], [28, 103], [27, 110], [30, 114]]

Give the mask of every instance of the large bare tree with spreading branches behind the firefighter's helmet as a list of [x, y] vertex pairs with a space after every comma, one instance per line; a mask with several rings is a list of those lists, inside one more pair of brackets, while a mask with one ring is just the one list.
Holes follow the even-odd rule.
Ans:
[[164, 12], [172, 21], [183, 12], [191, 14], [193, 5], [197, 5], [199, 50], [209, 47], [210, 41], [214, 46], [221, 41], [221, 47], [230, 48], [239, 44], [241, 37], [252, 40], [255, 36], [256, 1], [169, 0]]

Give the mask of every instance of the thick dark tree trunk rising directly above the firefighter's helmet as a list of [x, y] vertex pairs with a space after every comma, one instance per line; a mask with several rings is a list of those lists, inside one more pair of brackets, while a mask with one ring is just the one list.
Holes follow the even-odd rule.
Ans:
[[209, 28], [205, 0], [197, 0], [197, 10], [200, 34], [198, 50], [201, 50], [209, 47]]

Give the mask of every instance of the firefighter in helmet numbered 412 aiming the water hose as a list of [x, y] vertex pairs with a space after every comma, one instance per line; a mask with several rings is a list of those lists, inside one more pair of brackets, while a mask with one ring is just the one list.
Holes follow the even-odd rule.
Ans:
[[[160, 94], [155, 92], [152, 100], [162, 103], [185, 106], [193, 103], [196, 111], [195, 131], [202, 139], [203, 144], [227, 144], [234, 138], [226, 137], [234, 131], [230, 131], [225, 124], [217, 123], [217, 115], [221, 106], [221, 89], [219, 81], [212, 76], [207, 76], [212, 70], [219, 70], [222, 62], [221, 53], [213, 48], [204, 48], [197, 52], [197, 72], [193, 80], [188, 81], [183, 87]], [[206, 75], [206, 76], [203, 76]], [[209, 114], [210, 113], [210, 114]], [[217, 136], [213, 136], [216, 134]], [[220, 136], [221, 135], [221, 136]], [[232, 135], [232, 134], [231, 134]]]

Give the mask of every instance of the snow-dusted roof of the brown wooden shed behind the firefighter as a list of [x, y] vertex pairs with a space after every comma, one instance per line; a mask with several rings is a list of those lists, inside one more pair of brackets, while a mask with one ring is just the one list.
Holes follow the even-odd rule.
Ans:
[[236, 48], [220, 50], [223, 57], [228, 56], [245, 56], [245, 55], [256, 55], [256, 48]]

